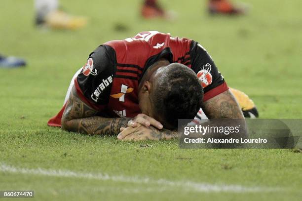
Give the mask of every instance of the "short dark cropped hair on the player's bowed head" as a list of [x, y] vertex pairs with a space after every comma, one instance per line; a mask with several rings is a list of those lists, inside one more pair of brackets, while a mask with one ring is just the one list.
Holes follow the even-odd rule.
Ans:
[[193, 119], [203, 100], [203, 88], [194, 71], [172, 63], [158, 76], [151, 96], [157, 119], [166, 128], [177, 128], [179, 119]]

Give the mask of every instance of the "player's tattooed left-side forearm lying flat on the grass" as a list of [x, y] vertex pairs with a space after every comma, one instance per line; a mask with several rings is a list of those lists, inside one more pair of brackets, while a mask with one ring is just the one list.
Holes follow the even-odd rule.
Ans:
[[129, 120], [94, 116], [62, 121], [62, 129], [89, 135], [117, 135], [120, 127], [126, 127]]

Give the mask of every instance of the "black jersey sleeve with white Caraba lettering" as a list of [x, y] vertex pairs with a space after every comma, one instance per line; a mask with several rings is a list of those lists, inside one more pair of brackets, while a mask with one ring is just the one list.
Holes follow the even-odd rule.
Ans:
[[115, 66], [114, 49], [109, 45], [97, 47], [75, 80], [79, 97], [95, 109], [104, 108], [109, 101]]

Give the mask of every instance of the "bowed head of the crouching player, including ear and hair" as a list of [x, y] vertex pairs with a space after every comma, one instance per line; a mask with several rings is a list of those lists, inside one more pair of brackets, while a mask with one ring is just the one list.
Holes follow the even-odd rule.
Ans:
[[150, 68], [139, 86], [142, 113], [170, 129], [177, 127], [178, 119], [193, 119], [203, 99], [196, 74], [183, 64], [167, 61], [159, 61]]

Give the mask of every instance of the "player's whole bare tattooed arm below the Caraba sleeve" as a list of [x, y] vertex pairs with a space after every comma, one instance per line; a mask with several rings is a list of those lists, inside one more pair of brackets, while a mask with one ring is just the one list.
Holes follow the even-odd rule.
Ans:
[[120, 127], [127, 127], [130, 118], [104, 118], [98, 111], [79, 99], [73, 87], [62, 117], [64, 130], [91, 135], [117, 135]]

